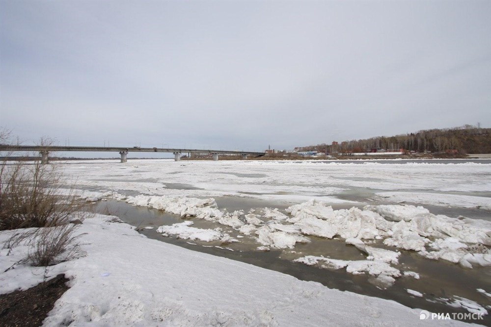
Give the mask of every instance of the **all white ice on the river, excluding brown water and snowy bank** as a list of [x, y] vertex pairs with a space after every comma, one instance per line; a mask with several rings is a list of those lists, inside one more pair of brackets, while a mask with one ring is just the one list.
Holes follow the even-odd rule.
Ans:
[[[398, 278], [420, 278], [395, 267], [404, 250], [462, 269], [491, 266], [491, 219], [434, 214], [426, 207], [471, 208], [480, 218], [489, 216], [490, 164], [130, 160], [70, 162], [65, 173], [77, 179], [78, 194], [86, 201], [112, 198], [213, 224], [197, 228], [185, 221], [156, 230], [166, 236], [252, 241], [263, 251], [295, 249], [315, 237], [341, 239], [364, 257], [298, 253], [295, 260], [370, 275], [382, 288]], [[268, 206], [229, 212], [215, 200], [224, 196], [274, 201], [286, 210]], [[240, 237], [231, 237], [232, 232]], [[452, 301], [486, 311], [478, 303]]]

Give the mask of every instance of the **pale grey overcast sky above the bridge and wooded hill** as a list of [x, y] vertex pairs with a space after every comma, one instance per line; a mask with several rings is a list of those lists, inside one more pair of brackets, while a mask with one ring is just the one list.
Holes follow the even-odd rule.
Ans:
[[292, 149], [491, 127], [491, 1], [0, 1], [25, 144]]

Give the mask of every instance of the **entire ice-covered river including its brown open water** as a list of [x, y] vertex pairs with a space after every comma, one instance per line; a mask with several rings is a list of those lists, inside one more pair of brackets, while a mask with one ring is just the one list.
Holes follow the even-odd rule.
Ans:
[[490, 160], [63, 166], [148, 237], [434, 312], [491, 310]]

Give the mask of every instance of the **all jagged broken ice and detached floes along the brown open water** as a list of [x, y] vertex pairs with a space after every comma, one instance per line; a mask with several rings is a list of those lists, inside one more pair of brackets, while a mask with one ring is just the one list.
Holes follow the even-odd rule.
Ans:
[[[214, 199], [143, 195], [123, 197], [119, 194], [113, 194], [113, 197], [136, 206], [164, 210], [185, 219], [205, 220], [222, 226], [214, 229], [195, 228], [191, 227], [191, 221], [186, 220], [172, 226], [160, 226], [157, 232], [163, 236], [220, 241], [222, 244], [241, 243], [246, 237], [258, 244], [259, 251], [294, 249], [299, 243], [309, 243], [310, 236], [345, 240], [346, 244], [364, 253], [365, 259], [345, 260], [336, 256], [307, 254], [293, 261], [329, 270], [341, 269], [353, 275], [366, 274], [373, 277], [368, 281], [380, 289], [391, 287], [399, 278], [419, 279], [419, 274], [407, 268], [394, 267], [399, 263], [401, 253], [398, 249], [414, 251], [422, 258], [458, 263], [463, 267], [461, 269], [491, 266], [491, 251], [488, 248], [491, 244], [491, 222], [433, 215], [422, 206], [367, 205], [361, 209], [334, 210], [325, 202], [312, 200], [292, 205], [285, 213], [270, 208], [229, 213], [221, 211]], [[223, 227], [229, 228], [228, 233], [222, 230]], [[238, 233], [236, 238], [231, 236], [232, 230], [234, 234]], [[371, 246], [376, 242], [379, 243], [377, 247]], [[392, 249], [381, 248], [381, 242]], [[458, 296], [434, 300], [431, 299], [433, 297], [421, 297], [471, 313], [488, 314], [485, 306]]]

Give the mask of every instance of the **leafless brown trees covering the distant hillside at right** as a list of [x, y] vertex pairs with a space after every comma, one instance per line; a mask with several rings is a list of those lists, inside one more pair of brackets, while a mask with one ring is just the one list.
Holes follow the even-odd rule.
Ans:
[[371, 149], [415, 152], [491, 153], [491, 128], [464, 125], [445, 129], [420, 130], [396, 136], [378, 136], [363, 140], [332, 142], [296, 148], [299, 151], [365, 152]]

